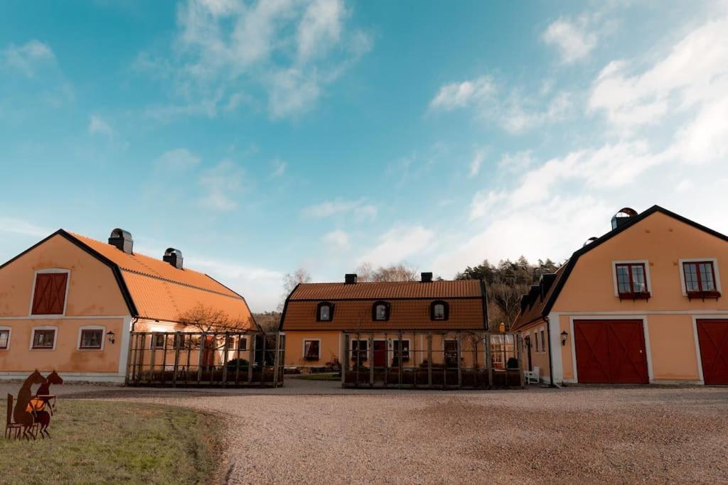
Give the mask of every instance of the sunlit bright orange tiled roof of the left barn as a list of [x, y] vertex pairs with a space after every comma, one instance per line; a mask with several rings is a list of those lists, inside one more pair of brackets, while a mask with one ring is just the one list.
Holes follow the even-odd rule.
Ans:
[[107, 264], [116, 266], [122, 278], [119, 286], [132, 300], [136, 317], [178, 322], [187, 310], [202, 304], [223, 310], [230, 318], [244, 322], [248, 327], [256, 326], [245, 298], [205, 273], [178, 269], [168, 262], [136, 252], [127, 254], [116, 246], [80, 234], [63, 230], [58, 233], [75, 239]]

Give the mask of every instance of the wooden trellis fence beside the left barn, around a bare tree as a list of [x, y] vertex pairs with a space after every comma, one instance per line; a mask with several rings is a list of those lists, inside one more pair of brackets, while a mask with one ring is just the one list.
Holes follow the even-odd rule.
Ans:
[[132, 332], [127, 385], [283, 385], [283, 332]]

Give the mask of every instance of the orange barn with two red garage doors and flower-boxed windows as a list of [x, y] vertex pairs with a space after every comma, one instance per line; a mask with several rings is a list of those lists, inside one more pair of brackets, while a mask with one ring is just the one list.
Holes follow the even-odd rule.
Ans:
[[523, 295], [514, 331], [545, 382], [728, 384], [728, 236], [622, 209]]

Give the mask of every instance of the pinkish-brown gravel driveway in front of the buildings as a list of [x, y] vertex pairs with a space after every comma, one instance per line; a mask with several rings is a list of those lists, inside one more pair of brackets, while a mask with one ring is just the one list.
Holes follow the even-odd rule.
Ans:
[[728, 481], [727, 388], [62, 387], [221, 414], [230, 483]]

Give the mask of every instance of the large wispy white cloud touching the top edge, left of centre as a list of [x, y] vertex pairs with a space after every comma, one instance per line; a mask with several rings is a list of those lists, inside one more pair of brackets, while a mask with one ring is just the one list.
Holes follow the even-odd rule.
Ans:
[[142, 52], [135, 68], [172, 83], [172, 106], [153, 108], [163, 116], [216, 116], [261, 90], [272, 118], [296, 116], [371, 48], [348, 17], [342, 0], [189, 0], [178, 8], [172, 60]]

